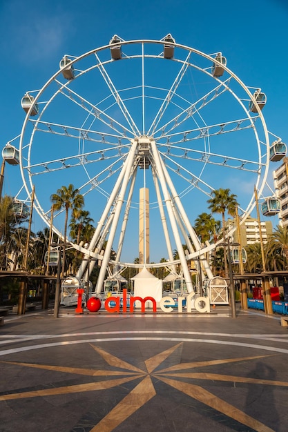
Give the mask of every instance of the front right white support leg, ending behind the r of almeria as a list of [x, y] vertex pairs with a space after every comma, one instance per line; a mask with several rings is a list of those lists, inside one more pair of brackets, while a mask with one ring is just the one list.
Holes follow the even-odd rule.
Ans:
[[184, 279], [186, 281], [187, 291], [189, 293], [193, 293], [194, 290], [193, 290], [193, 285], [191, 282], [191, 276], [189, 273], [189, 268], [188, 268], [188, 264], [186, 261], [186, 257], [185, 257], [184, 251], [183, 251], [180, 235], [179, 235], [179, 232], [177, 229], [177, 223], [176, 223], [176, 220], [174, 217], [173, 208], [172, 208], [172, 204], [171, 204], [171, 197], [170, 197], [167, 185], [166, 185], [165, 176], [164, 176], [164, 173], [162, 170], [162, 164], [160, 161], [160, 155], [157, 151], [155, 141], [151, 141], [151, 150], [153, 153], [153, 157], [154, 157], [155, 165], [156, 165], [156, 170], [157, 170], [160, 184], [162, 187], [166, 208], [167, 208], [167, 212], [168, 212], [170, 223], [171, 223], [171, 228], [172, 228], [173, 235], [174, 235], [175, 242], [176, 242], [176, 246], [177, 246], [177, 251], [178, 251], [178, 254], [180, 257], [182, 271], [183, 271]]

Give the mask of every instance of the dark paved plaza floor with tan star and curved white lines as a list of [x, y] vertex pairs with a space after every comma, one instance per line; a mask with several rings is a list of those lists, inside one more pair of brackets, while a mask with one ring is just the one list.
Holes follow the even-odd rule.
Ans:
[[229, 314], [10, 313], [0, 431], [287, 432], [288, 330]]

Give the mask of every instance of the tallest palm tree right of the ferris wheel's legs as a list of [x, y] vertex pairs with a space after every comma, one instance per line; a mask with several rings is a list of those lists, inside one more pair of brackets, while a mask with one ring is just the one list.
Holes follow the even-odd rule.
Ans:
[[[236, 214], [238, 202], [236, 195], [230, 193], [230, 189], [216, 189], [212, 192], [212, 197], [208, 200], [209, 209], [212, 213], [220, 213], [222, 215], [222, 230], [223, 241], [225, 241], [225, 212], [231, 216]], [[224, 248], [224, 269], [225, 277], [228, 277], [226, 249]]]

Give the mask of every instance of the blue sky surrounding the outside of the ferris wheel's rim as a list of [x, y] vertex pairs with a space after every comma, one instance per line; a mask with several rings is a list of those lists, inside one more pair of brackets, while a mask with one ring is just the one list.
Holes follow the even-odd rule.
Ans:
[[[177, 43], [204, 53], [221, 51], [227, 57], [227, 66], [246, 86], [261, 88], [265, 92], [267, 104], [263, 115], [267, 128], [288, 144], [287, 22], [288, 4], [285, 0], [87, 0], [81, 3], [3, 0], [0, 5], [2, 146], [21, 133], [25, 119], [20, 106], [23, 94], [27, 90], [41, 89], [57, 72], [64, 54], [78, 57], [106, 45], [115, 34], [128, 41], [159, 40], [167, 33], [171, 33]], [[61, 114], [54, 114], [57, 121]], [[15, 140], [16, 146], [17, 143]], [[238, 146], [242, 144], [239, 142]], [[243, 159], [249, 159], [249, 148], [243, 147], [243, 152]], [[271, 169], [276, 166], [273, 164]], [[207, 178], [212, 176], [212, 168], [208, 174], [211, 175]], [[67, 184], [74, 184], [74, 179], [67, 177]], [[3, 193], [16, 195], [21, 184], [18, 168], [6, 164]], [[62, 184], [55, 187], [60, 186]], [[245, 188], [251, 188], [251, 183], [244, 177], [239, 182], [237, 177], [233, 184], [230, 178], [220, 176], [212, 186], [230, 187], [241, 204], [241, 193], [244, 194]], [[45, 184], [37, 190], [37, 195], [48, 206], [50, 193]], [[195, 198], [193, 208], [189, 209], [192, 223], [198, 214], [207, 211], [205, 202], [206, 198], [202, 201]], [[252, 215], [256, 217], [256, 214]], [[97, 221], [99, 215], [95, 213], [92, 217]], [[277, 219], [271, 220], [274, 225], [277, 223]], [[35, 213], [32, 229], [43, 228], [44, 222]], [[159, 244], [161, 241], [151, 251], [153, 261], [166, 256]], [[137, 246], [131, 247], [125, 259], [133, 261], [136, 255]]]

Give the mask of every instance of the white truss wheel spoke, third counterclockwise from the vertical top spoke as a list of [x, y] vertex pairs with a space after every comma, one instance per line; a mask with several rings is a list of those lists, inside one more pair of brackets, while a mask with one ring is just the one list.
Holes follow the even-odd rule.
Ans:
[[77, 128], [75, 126], [51, 123], [49, 121], [35, 119], [30, 119], [30, 121], [32, 124], [34, 124], [35, 130], [38, 130], [39, 132], [50, 132], [53, 135], [61, 135], [64, 137], [72, 137], [77, 139], [80, 138], [85, 139], [86, 141], [110, 144], [111, 146], [127, 143], [127, 138], [124, 138], [123, 135], [115, 135], [108, 132], [93, 130], [91, 128]]

